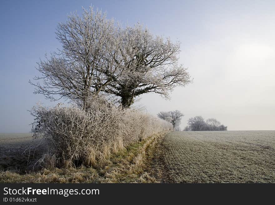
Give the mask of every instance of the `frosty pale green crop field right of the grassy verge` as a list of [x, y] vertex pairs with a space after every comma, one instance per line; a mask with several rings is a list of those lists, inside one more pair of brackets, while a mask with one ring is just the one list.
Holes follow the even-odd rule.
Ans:
[[163, 182], [275, 182], [275, 131], [171, 132], [161, 144]]

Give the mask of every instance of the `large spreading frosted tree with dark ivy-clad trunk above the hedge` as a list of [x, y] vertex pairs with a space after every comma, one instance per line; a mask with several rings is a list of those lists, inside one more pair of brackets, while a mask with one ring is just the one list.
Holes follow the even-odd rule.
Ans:
[[133, 50], [135, 56], [125, 56], [137, 61], [129, 67], [127, 75], [116, 84], [109, 84], [105, 92], [119, 96], [123, 107], [129, 107], [134, 99], [148, 92], [158, 93], [169, 98], [169, 91], [176, 86], [185, 86], [192, 82], [187, 68], [178, 65], [179, 43], [172, 43], [169, 38], [154, 36], [141, 25], [127, 27], [125, 33], [137, 42]]

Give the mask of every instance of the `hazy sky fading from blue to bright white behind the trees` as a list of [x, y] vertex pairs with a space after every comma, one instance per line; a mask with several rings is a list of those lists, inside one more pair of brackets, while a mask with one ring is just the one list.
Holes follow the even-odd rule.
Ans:
[[58, 22], [93, 5], [108, 17], [148, 26], [181, 41], [180, 62], [194, 82], [165, 100], [142, 95], [149, 113], [181, 110], [181, 127], [195, 115], [214, 117], [228, 130], [275, 129], [275, 1], [5, 1], [0, 2], [0, 132], [28, 132], [36, 102], [28, 80], [39, 57], [60, 47]]

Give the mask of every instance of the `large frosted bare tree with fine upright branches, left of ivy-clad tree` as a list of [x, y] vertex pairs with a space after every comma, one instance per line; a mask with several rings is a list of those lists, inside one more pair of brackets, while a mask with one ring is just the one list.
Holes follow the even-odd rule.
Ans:
[[85, 105], [91, 94], [102, 92], [114, 77], [124, 79], [126, 69], [136, 64], [134, 39], [93, 7], [84, 9], [82, 17], [68, 16], [67, 22], [58, 24], [56, 35], [63, 48], [40, 60], [37, 70], [42, 76], [34, 78], [36, 84], [30, 81], [36, 86], [35, 94], [50, 100], [64, 97]]

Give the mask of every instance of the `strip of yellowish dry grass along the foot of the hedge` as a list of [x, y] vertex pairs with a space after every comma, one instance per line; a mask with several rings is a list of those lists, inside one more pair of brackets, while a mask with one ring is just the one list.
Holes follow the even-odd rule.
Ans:
[[0, 183], [156, 183], [159, 180], [147, 168], [156, 142], [163, 134], [154, 134], [128, 145], [96, 168], [82, 165], [27, 174], [3, 171]]

